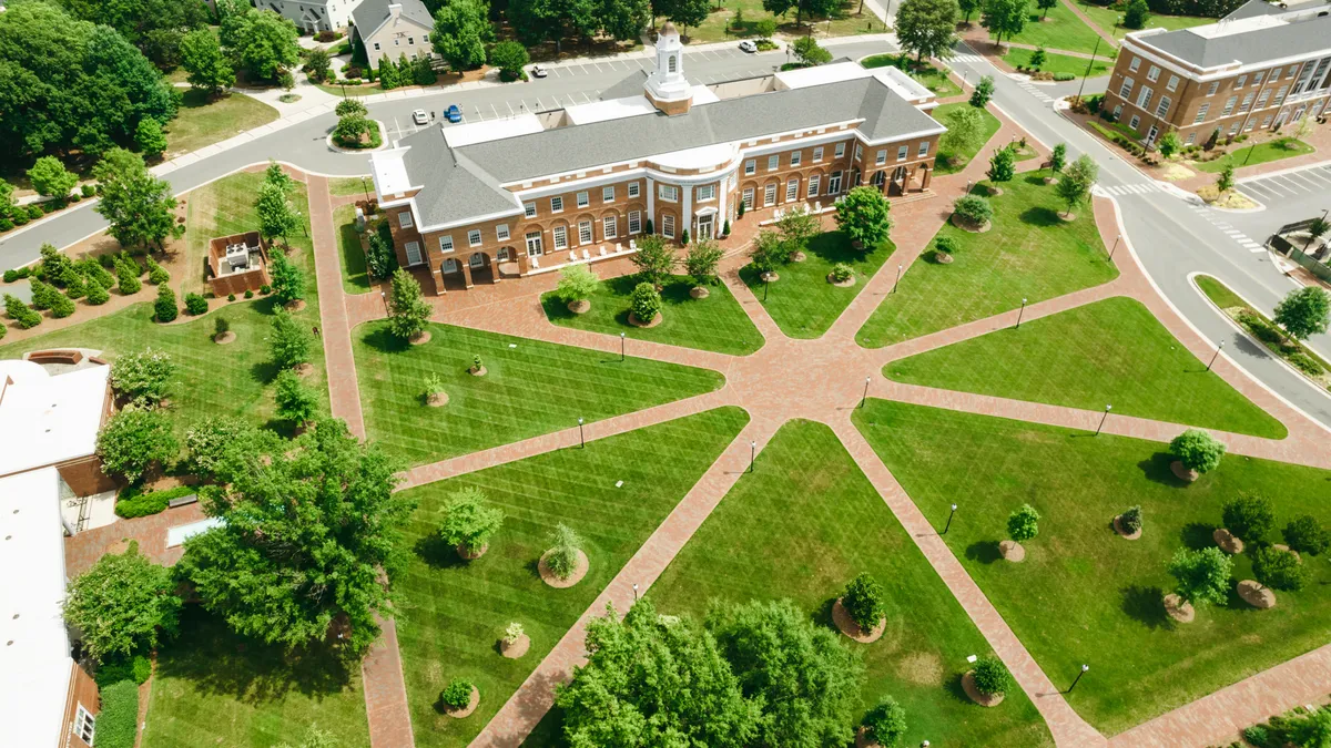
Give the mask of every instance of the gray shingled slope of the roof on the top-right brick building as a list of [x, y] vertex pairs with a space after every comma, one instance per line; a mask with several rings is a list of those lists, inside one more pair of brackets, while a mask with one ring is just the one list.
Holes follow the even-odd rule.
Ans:
[[1244, 64], [1263, 63], [1331, 48], [1331, 15], [1217, 39], [1179, 29], [1150, 35], [1138, 41], [1202, 68], [1235, 60]]

